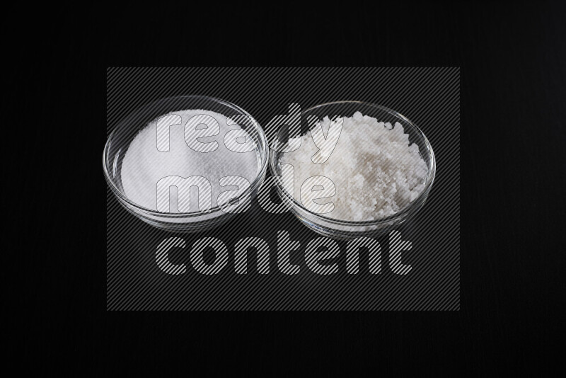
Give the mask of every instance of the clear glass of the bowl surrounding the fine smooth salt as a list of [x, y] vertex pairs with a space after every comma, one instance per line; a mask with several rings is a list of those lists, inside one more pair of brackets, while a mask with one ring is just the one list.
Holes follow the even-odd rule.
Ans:
[[[225, 115], [227, 118], [237, 119], [238, 125], [246, 130], [255, 143], [255, 155], [257, 157], [258, 169], [255, 180], [250, 181], [249, 188], [238, 197], [238, 203], [234, 204], [230, 212], [224, 212], [216, 205], [210, 210], [203, 212], [158, 212], [141, 206], [127, 197], [122, 185], [122, 161], [127, 149], [138, 132], [146, 127], [149, 122], [156, 120], [161, 115], [181, 110], [208, 110]], [[186, 122], [186, 120], [183, 120]], [[222, 127], [222, 125], [220, 125]], [[197, 127], [198, 128], [198, 127]], [[219, 138], [217, 141], [222, 144]], [[188, 148], [188, 147], [187, 147]], [[249, 152], [251, 153], [251, 151]], [[268, 147], [267, 139], [262, 127], [258, 122], [238, 105], [207, 96], [178, 96], [163, 98], [154, 101], [135, 110], [127, 116], [112, 131], [104, 147], [103, 171], [108, 186], [114, 193], [118, 202], [125, 209], [142, 221], [159, 229], [168, 231], [196, 232], [211, 229], [226, 222], [238, 210], [244, 210], [257, 195], [258, 187], [265, 178], [267, 170]], [[252, 158], [253, 159], [253, 158]], [[215, 185], [215, 183], [211, 183]], [[219, 185], [219, 183], [216, 183]]]

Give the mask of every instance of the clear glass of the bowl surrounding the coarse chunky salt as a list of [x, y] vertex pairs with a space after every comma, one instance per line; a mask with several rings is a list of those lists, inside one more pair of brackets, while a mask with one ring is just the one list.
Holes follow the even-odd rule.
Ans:
[[[279, 197], [281, 197], [282, 201], [290, 208], [291, 212], [293, 212], [306, 227], [316, 231], [318, 234], [330, 236], [334, 239], [354, 239], [379, 234], [410, 219], [410, 217], [420, 210], [424, 201], [427, 199], [430, 189], [432, 188], [434, 173], [436, 171], [434, 152], [423, 132], [405, 116], [381, 105], [360, 101], [337, 101], [316, 105], [313, 108], [308, 108], [301, 112], [301, 133], [305, 134], [309, 128], [307, 123], [307, 117], [309, 115], [316, 115], [319, 120], [322, 120], [327, 115], [330, 118], [333, 118], [335, 115], [352, 117], [357, 111], [362, 113], [362, 115], [369, 115], [372, 118], [376, 118], [379, 122], [391, 122], [391, 125], [395, 125], [395, 122], [399, 122], [403, 125], [405, 134], [409, 134], [410, 144], [415, 143], [419, 147], [419, 153], [427, 164], [427, 175], [424, 180], [422, 193], [420, 193], [415, 200], [391, 216], [364, 222], [335, 219], [325, 214], [316, 214], [307, 210], [291, 193], [284, 190], [281, 178], [281, 164], [279, 162], [284, 152], [272, 149], [270, 151], [270, 169], [272, 175], [275, 176]], [[282, 144], [283, 147], [285, 145], [286, 143]]]

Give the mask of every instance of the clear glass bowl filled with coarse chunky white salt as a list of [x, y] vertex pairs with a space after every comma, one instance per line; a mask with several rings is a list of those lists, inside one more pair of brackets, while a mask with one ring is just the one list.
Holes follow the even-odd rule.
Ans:
[[[308, 228], [335, 239], [371, 236], [410, 219], [434, 181], [434, 152], [408, 118], [359, 101], [301, 112], [301, 128], [270, 151], [277, 193]], [[287, 140], [286, 140], [287, 139]]]

